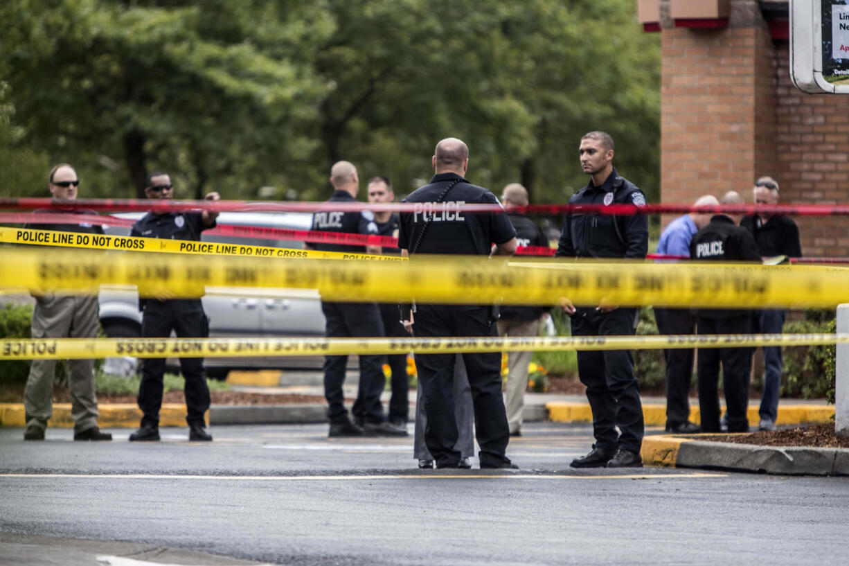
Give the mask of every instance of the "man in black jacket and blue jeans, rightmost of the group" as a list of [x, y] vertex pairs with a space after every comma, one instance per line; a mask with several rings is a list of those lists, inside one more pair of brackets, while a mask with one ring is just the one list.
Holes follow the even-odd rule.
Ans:
[[[772, 177], [759, 178], [752, 188], [752, 195], [755, 197], [755, 204], [779, 204], [779, 184]], [[758, 213], [743, 218], [740, 225], [755, 236], [758, 251], [763, 257], [801, 257], [799, 227], [796, 226], [793, 218], [784, 214]], [[787, 311], [781, 308], [755, 311], [756, 331], [764, 334], [781, 334], [786, 317]], [[758, 410], [761, 416], [758, 429], [775, 430], [781, 390], [781, 347], [764, 346], [763, 364], [763, 395], [761, 408]]]

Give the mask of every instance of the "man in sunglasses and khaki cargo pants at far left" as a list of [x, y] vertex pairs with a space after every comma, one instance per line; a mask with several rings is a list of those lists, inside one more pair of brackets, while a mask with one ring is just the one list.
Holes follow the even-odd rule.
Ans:
[[[56, 201], [73, 201], [80, 184], [74, 167], [61, 163], [50, 171], [48, 188]], [[57, 203], [59, 204], [59, 203]], [[44, 208], [36, 214], [50, 213], [95, 215], [93, 210]], [[48, 221], [49, 222], [49, 221]], [[24, 228], [49, 229], [60, 232], [103, 234], [93, 224], [25, 224]], [[33, 293], [36, 306], [32, 310], [33, 338], [93, 338], [98, 335], [98, 297], [76, 297], [62, 293]], [[26, 411], [25, 440], [43, 440], [48, 419], [53, 416], [53, 378], [55, 359], [34, 359], [26, 379], [24, 407]], [[75, 440], [111, 440], [110, 433], [98, 427], [98, 399], [95, 394], [93, 359], [68, 360], [68, 392], [74, 418]]]

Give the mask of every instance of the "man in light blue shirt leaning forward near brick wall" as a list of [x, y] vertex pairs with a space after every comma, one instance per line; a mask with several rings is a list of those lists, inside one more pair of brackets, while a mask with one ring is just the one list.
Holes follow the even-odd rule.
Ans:
[[[717, 197], [705, 195], [694, 207], [718, 205]], [[661, 234], [657, 253], [689, 258], [693, 235], [711, 222], [711, 212], [689, 212], [672, 220]], [[694, 334], [695, 317], [689, 308], [655, 308], [657, 330], [661, 334]], [[689, 388], [693, 380], [693, 349], [667, 349], [666, 360], [666, 431], [698, 433], [699, 426], [689, 421]]]

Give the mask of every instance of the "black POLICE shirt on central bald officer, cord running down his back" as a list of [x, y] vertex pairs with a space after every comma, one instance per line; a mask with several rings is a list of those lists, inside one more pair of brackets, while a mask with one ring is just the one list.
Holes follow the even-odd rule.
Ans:
[[[456, 182], [441, 202], [436, 202], [448, 184]], [[470, 184], [456, 173], [440, 173], [430, 184], [413, 191], [404, 202], [413, 203], [413, 212], [402, 212], [398, 246], [414, 253], [446, 253], [488, 256], [492, 244], [503, 244], [516, 236], [516, 230], [503, 212], [467, 212], [464, 204], [498, 204], [489, 190]], [[424, 236], [419, 241], [424, 227]]]

